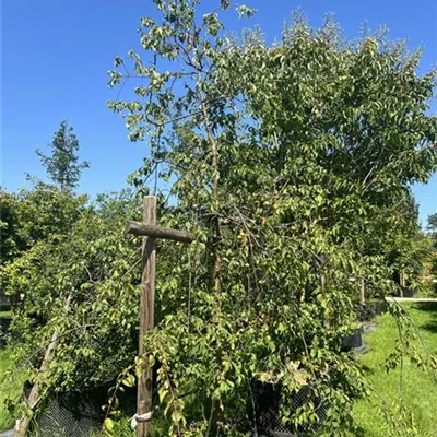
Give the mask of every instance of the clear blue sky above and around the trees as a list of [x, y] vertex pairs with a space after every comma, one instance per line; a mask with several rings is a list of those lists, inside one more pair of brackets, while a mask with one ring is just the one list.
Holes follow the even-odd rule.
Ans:
[[[154, 11], [151, 0], [0, 0], [2, 3], [3, 186], [16, 190], [24, 175], [43, 177], [35, 149], [44, 149], [61, 120], [79, 137], [81, 155], [92, 167], [80, 191], [116, 190], [141, 165], [146, 144], [129, 143], [123, 120], [106, 109], [115, 97], [106, 71], [116, 55], [138, 47], [141, 16]], [[214, 7], [218, 0], [203, 0]], [[243, 2], [243, 0], [241, 0]], [[259, 10], [269, 39], [280, 36], [285, 19], [297, 8], [312, 25], [333, 12], [347, 37], [363, 23], [385, 24], [393, 38], [411, 48], [424, 46], [422, 71], [437, 64], [436, 0], [246, 0]], [[248, 22], [231, 21], [238, 31]], [[434, 105], [434, 113], [437, 105]], [[421, 218], [437, 211], [437, 177], [414, 187]]]

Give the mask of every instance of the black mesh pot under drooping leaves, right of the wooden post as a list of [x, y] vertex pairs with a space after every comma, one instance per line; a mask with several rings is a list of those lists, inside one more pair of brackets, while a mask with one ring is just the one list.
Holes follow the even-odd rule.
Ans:
[[318, 423], [307, 423], [299, 426], [284, 424], [281, 418], [282, 402], [281, 386], [253, 380], [250, 385], [250, 397], [248, 402], [249, 424], [253, 436], [291, 437], [304, 436], [312, 433], [326, 421], [328, 405], [320, 399], [315, 398], [309, 386], [305, 386], [297, 393], [290, 394], [286, 404], [290, 414], [294, 414], [300, 406], [311, 402], [314, 412], [318, 416]]

